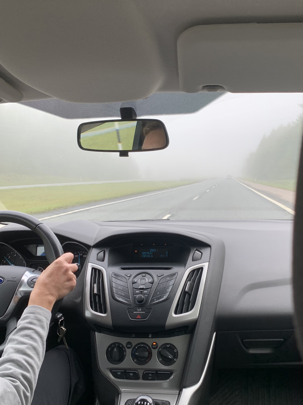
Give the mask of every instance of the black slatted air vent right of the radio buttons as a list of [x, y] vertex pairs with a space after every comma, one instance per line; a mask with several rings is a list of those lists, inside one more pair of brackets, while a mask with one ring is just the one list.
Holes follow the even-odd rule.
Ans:
[[187, 276], [175, 308], [175, 315], [190, 312], [194, 308], [197, 301], [202, 272], [203, 267], [200, 267], [200, 269], [192, 270]]

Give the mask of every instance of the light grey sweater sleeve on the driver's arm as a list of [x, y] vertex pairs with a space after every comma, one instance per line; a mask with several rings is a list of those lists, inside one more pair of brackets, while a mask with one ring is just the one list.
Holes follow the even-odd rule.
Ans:
[[30, 405], [44, 358], [51, 313], [30, 305], [0, 358], [0, 404]]

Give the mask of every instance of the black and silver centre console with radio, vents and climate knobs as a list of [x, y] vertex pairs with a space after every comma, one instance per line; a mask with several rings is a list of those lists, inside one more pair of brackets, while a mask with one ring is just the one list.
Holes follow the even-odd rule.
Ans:
[[147, 394], [177, 403], [211, 248], [176, 235], [114, 237], [90, 251], [85, 316], [120, 405]]

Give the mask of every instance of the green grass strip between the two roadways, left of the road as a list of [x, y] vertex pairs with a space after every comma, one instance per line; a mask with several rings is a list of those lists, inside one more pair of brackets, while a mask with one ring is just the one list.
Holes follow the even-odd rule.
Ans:
[[158, 181], [131, 181], [126, 183], [15, 188], [0, 190], [0, 202], [6, 209], [38, 214], [95, 201], [178, 187], [196, 181], [198, 180], [163, 181], [161, 183]]

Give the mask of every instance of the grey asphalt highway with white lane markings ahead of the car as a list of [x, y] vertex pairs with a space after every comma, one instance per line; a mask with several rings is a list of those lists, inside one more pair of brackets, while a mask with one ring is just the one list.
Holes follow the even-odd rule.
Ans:
[[[268, 197], [273, 199], [272, 196]], [[276, 203], [235, 179], [217, 178], [174, 189], [69, 207], [39, 214], [36, 217], [43, 222], [79, 219], [88, 221], [293, 219], [293, 207], [290, 203], [274, 201]]]

